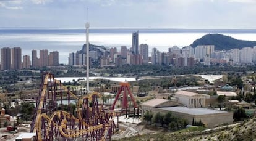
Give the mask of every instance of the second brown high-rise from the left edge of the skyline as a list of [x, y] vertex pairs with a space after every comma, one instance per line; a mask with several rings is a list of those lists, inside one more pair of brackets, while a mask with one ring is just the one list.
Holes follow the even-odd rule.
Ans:
[[21, 49], [20, 47], [14, 47], [12, 48], [12, 70], [20, 70], [21, 69], [21, 63], [22, 63], [22, 55], [21, 55]]

